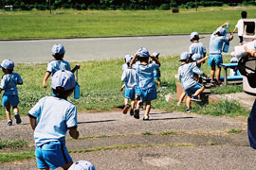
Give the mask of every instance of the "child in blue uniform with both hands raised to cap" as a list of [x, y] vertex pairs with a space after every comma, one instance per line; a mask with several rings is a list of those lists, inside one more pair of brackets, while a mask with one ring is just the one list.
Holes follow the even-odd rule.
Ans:
[[[153, 59], [155, 63], [149, 63], [149, 58]], [[133, 68], [137, 70], [138, 86], [141, 89], [141, 95], [140, 102], [137, 102], [134, 117], [139, 119], [139, 105], [141, 102], [146, 102], [146, 111], [143, 120], [149, 120], [151, 101], [157, 98], [154, 70], [155, 68], [159, 68], [160, 62], [155, 56], [150, 55], [149, 51], [144, 47], [137, 50], [134, 59], [130, 62], [130, 66], [135, 63], [136, 59], [139, 60], [140, 63], [135, 64]]]

